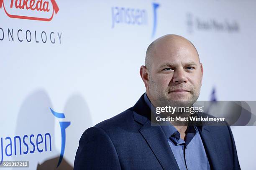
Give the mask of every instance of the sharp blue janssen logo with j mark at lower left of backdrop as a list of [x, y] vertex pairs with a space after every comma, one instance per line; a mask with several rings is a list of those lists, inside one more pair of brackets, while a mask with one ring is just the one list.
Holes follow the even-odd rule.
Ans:
[[[56, 117], [65, 118], [64, 113], [55, 112], [51, 109], [51, 113]], [[66, 145], [66, 128], [69, 127], [70, 122], [59, 122], [61, 129], [61, 152], [59, 161], [56, 167], [59, 167], [63, 159], [65, 145]], [[51, 152], [52, 134], [46, 132], [44, 134], [25, 134], [23, 136], [15, 137], [1, 137], [0, 138], [0, 165], [5, 157], [11, 157], [15, 155], [35, 154], [41, 152]]]

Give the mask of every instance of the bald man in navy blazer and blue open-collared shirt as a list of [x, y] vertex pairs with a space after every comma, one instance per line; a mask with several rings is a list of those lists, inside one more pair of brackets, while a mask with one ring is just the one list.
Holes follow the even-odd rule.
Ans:
[[74, 170], [239, 170], [230, 127], [151, 125], [151, 106], [195, 103], [202, 74], [197, 50], [187, 39], [166, 35], [151, 43], [140, 69], [146, 93], [130, 109], [82, 134]]

